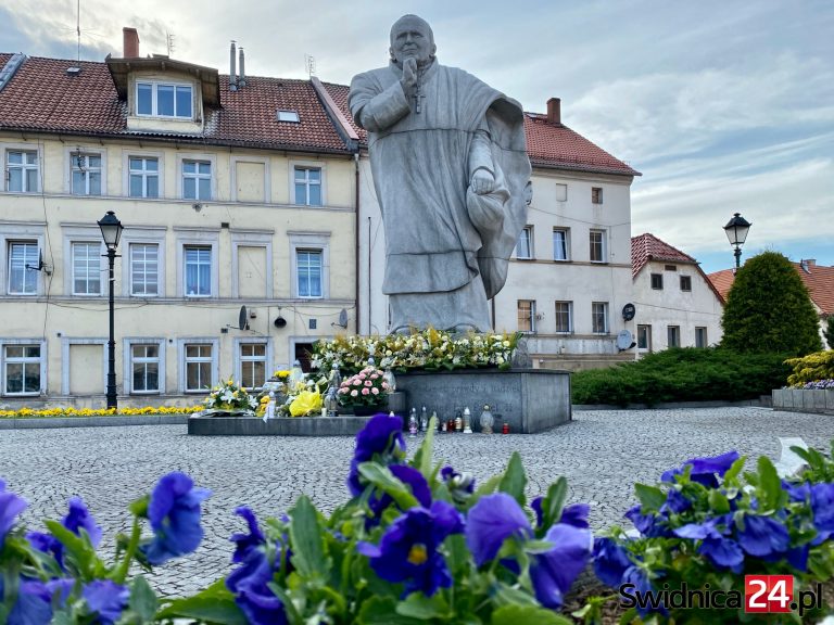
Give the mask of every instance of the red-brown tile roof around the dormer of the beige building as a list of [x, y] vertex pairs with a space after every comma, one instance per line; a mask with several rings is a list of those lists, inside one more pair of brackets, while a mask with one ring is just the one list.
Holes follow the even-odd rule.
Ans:
[[[66, 74], [71, 66], [81, 72], [71, 77]], [[0, 91], [0, 128], [350, 152], [307, 80], [252, 76], [247, 81], [247, 87], [229, 91], [228, 76], [219, 76], [220, 109], [207, 110], [200, 133], [140, 132], [128, 130], [127, 105], [118, 99], [105, 63], [29, 58]], [[300, 123], [277, 122], [279, 109], [296, 111]]]

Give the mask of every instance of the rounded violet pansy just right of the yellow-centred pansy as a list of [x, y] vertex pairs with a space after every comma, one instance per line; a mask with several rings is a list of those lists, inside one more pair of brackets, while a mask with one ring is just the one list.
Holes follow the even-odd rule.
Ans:
[[493, 560], [510, 536], [528, 538], [531, 535], [527, 514], [506, 493], [481, 497], [467, 515], [466, 544], [478, 566]]

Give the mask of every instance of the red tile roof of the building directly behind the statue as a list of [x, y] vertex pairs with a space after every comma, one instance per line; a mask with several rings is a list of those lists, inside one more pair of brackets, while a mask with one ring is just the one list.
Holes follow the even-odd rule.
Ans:
[[[324, 85], [359, 136], [359, 141], [363, 145], [367, 145], [367, 132], [356, 126], [348, 111], [349, 87], [332, 82], [325, 82]], [[640, 176], [639, 171], [567, 126], [548, 124], [546, 115], [525, 114], [525, 133], [527, 135], [527, 152], [530, 154], [530, 162], [533, 166]]]

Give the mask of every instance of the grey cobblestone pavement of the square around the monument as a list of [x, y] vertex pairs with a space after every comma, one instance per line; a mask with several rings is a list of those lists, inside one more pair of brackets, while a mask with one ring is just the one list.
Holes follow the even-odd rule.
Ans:
[[[518, 450], [530, 496], [565, 475], [569, 500], [589, 502], [599, 530], [619, 522], [635, 481], [653, 482], [687, 458], [733, 448], [775, 460], [780, 436], [827, 449], [834, 419], [762, 408], [574, 411], [571, 423], [538, 435], [439, 434], [434, 459], [483, 480]], [[109, 551], [115, 533], [128, 530], [126, 506], [164, 473], [185, 471], [214, 495], [203, 505], [205, 540], [197, 556], [152, 576], [162, 594], [181, 596], [229, 570], [228, 537], [243, 530], [237, 506], [274, 516], [305, 493], [329, 512], [346, 498], [352, 454], [348, 437], [195, 437], [185, 425], [12, 430], [0, 432], [0, 479], [29, 502], [24, 521], [30, 527], [63, 516], [66, 500], [80, 495], [104, 527]]]

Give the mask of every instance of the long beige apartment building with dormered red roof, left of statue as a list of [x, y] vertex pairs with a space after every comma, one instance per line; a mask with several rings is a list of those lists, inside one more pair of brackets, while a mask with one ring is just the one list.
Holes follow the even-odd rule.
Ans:
[[103, 405], [108, 211], [122, 405], [258, 387], [355, 332], [355, 146], [320, 84], [138, 44], [125, 29], [103, 63], [0, 53], [0, 407]]

